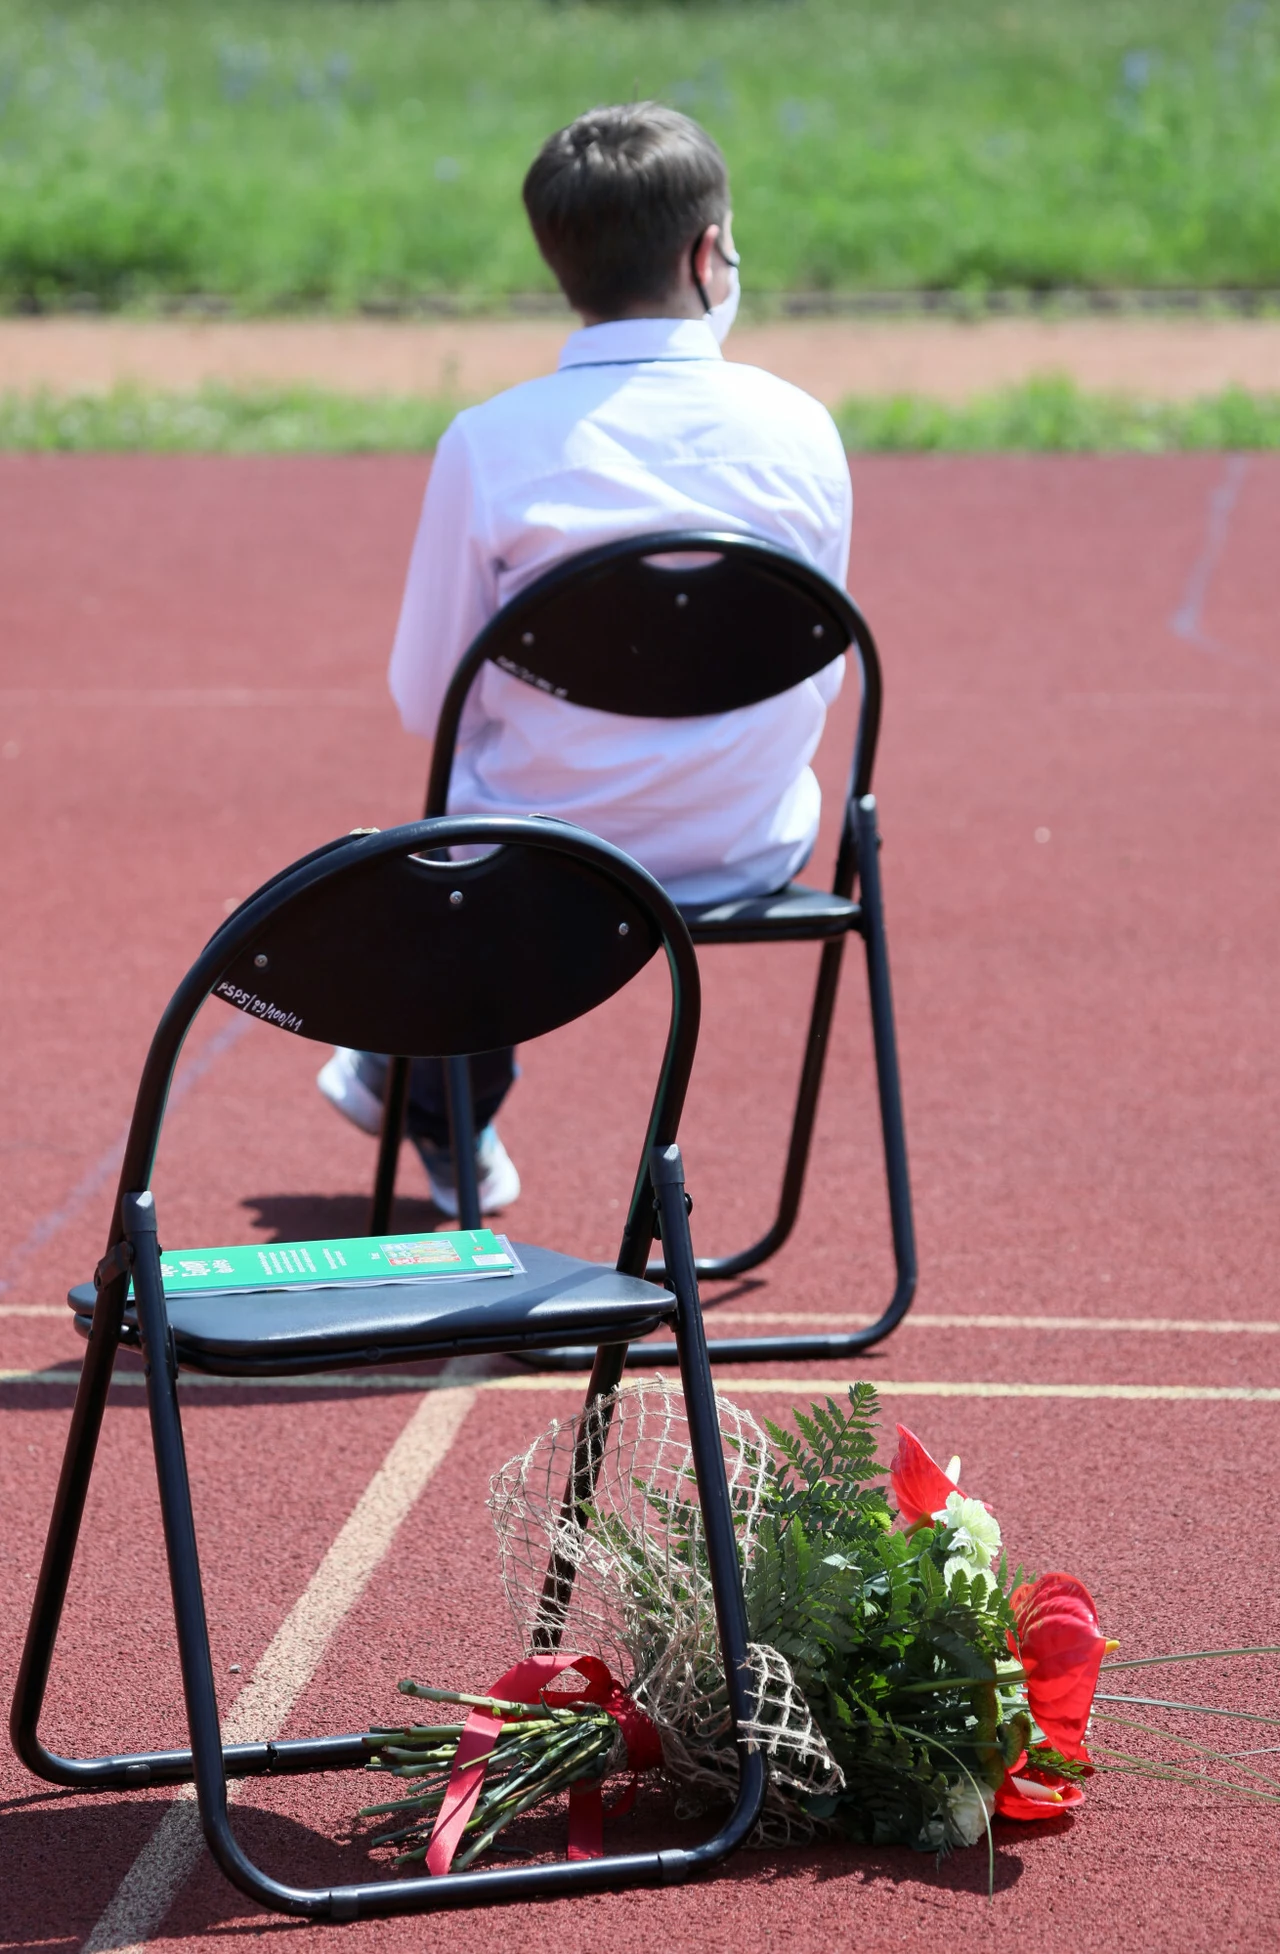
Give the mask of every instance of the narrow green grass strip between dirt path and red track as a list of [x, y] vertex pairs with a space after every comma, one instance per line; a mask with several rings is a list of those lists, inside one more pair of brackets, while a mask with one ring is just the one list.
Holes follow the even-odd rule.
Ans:
[[[373, 399], [309, 387], [197, 395], [0, 395], [0, 449], [27, 453], [418, 453], [457, 403]], [[856, 453], [1169, 453], [1280, 449], [1280, 395], [1241, 389], [1180, 404], [1030, 381], [944, 406], [911, 395], [846, 401], [840, 434]]]

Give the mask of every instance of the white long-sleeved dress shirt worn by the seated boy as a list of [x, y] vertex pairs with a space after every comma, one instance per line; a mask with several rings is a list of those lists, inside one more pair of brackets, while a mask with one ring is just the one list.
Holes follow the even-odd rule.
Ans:
[[[721, 356], [700, 319], [571, 334], [559, 371], [469, 406], [436, 451], [391, 692], [432, 739], [475, 633], [563, 557], [655, 530], [760, 535], [844, 584], [852, 490], [834, 422], [799, 387]], [[844, 658], [760, 705], [627, 719], [485, 664], [449, 813], [543, 813], [625, 848], [688, 903], [760, 895], [807, 862], [809, 760]]]

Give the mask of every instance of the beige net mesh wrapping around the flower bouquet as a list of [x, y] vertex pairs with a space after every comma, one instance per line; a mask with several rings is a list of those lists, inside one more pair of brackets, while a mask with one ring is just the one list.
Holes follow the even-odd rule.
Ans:
[[[748, 1411], [717, 1397], [739, 1555], [750, 1567], [764, 1514], [768, 1440]], [[662, 1378], [598, 1399], [586, 1424], [600, 1471], [584, 1524], [565, 1512], [578, 1421], [553, 1421], [492, 1479], [502, 1587], [526, 1651], [545, 1620], [547, 1565], [573, 1579], [561, 1645], [602, 1657], [657, 1725], [666, 1772], [690, 1794], [733, 1796], [739, 1778], [715, 1632], [684, 1399]], [[813, 1837], [797, 1794], [823, 1798], [844, 1778], [789, 1665], [750, 1643], [756, 1710], [747, 1737], [770, 1761], [762, 1837]]]

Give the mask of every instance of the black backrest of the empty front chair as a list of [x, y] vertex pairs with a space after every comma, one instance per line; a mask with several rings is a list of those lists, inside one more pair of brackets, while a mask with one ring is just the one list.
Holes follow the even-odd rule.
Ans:
[[[449, 860], [449, 850], [485, 850]], [[207, 942], [160, 1020], [119, 1194], [150, 1184], [182, 1041], [207, 997], [299, 1038], [405, 1057], [491, 1051], [584, 1016], [666, 952], [672, 1012], [649, 1147], [676, 1137], [698, 1041], [698, 959], [670, 897], [629, 856], [563, 821], [473, 817], [360, 832], [250, 895]], [[117, 1204], [119, 1206], [119, 1204]], [[115, 1217], [119, 1227], [119, 1213]], [[627, 1251], [631, 1233], [643, 1235]], [[113, 1241], [117, 1235], [113, 1235]], [[621, 1266], [621, 1262], [619, 1262]]]

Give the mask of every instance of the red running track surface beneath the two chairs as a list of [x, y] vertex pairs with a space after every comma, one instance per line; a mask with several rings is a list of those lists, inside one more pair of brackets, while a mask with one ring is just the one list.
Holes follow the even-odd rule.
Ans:
[[[156, 1014], [227, 905], [315, 842], [416, 807], [424, 752], [381, 672], [422, 475], [410, 459], [0, 463], [6, 1698], [70, 1407], [57, 1380], [78, 1360], [61, 1297], [102, 1251]], [[922, 1264], [915, 1317], [862, 1372], [889, 1415], [961, 1452], [1016, 1557], [1088, 1581], [1126, 1655], [1276, 1641], [1280, 465], [868, 459], [854, 479], [854, 588], [887, 666], [877, 791]], [[829, 789], [848, 737], [846, 709], [823, 752]], [[698, 1245], [717, 1251], [776, 1184], [811, 956], [727, 950], [705, 971], [684, 1137]], [[870, 1317], [887, 1294], [852, 965], [842, 1004], [801, 1229], [721, 1303], [725, 1327]], [[512, 1233], [612, 1251], [657, 1034], [659, 987], [643, 981], [526, 1053], [502, 1122], [526, 1178]], [[371, 1147], [319, 1102], [317, 1061], [211, 1006], [156, 1178], [170, 1241], [360, 1225]], [[410, 1161], [405, 1190], [405, 1219], [430, 1225]], [[1157, 1327], [1118, 1327], [1143, 1321]], [[281, 1624], [319, 1593], [422, 1403], [465, 1415], [315, 1673], [295, 1665], [281, 1727], [360, 1727], [399, 1675], [475, 1686], [504, 1667], [487, 1477], [573, 1405], [563, 1381], [504, 1378], [489, 1366], [467, 1401], [190, 1393], [229, 1710], [262, 1686], [264, 1653], [279, 1655]], [[803, 1368], [747, 1381], [774, 1417], [805, 1393]], [[1001, 1395], [1010, 1383], [1026, 1395]], [[1141, 1395], [1106, 1395], [1116, 1385]], [[1053, 1395], [1067, 1389], [1102, 1395]], [[1210, 1395], [1223, 1389], [1237, 1395]], [[121, 1385], [51, 1690], [49, 1733], [66, 1745], [180, 1741], [145, 1423]], [[1249, 1665], [1159, 1675], [1165, 1694], [1280, 1702]], [[346, 1882], [367, 1864], [348, 1827], [362, 1794], [346, 1776], [250, 1784], [236, 1825], [279, 1874]], [[119, 1923], [145, 1921], [139, 1852], [152, 1841], [154, 1858], [168, 1805], [47, 1794], [6, 1753], [0, 1946], [139, 1944]], [[616, 1843], [657, 1839], [664, 1809], [651, 1792]], [[190, 1878], [164, 1864], [149, 1944], [260, 1931], [319, 1944], [322, 1929], [258, 1913], [207, 1862]], [[678, 1893], [367, 1923], [342, 1944], [463, 1934], [797, 1954], [1268, 1948], [1276, 1817], [1094, 1780], [1077, 1819], [997, 1827], [993, 1907], [981, 1852], [934, 1866], [823, 1847], [743, 1852]]]

